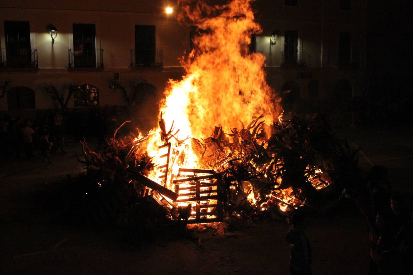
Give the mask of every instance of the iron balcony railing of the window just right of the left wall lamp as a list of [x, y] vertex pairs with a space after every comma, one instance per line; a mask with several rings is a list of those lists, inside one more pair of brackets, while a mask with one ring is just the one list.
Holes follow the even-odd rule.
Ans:
[[103, 49], [69, 49], [69, 68], [103, 68]]

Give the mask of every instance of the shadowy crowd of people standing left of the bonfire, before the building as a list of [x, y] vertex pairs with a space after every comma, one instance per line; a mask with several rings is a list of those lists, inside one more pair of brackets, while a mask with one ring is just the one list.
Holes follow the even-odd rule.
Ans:
[[36, 118], [13, 118], [0, 116], [0, 156], [4, 160], [23, 158], [33, 159], [33, 150], [39, 150], [43, 162], [52, 163], [50, 153], [65, 154], [65, 137], [75, 142], [83, 137], [97, 139], [102, 144], [114, 129], [119, 127], [116, 115], [107, 115], [97, 109], [91, 113], [47, 110]]

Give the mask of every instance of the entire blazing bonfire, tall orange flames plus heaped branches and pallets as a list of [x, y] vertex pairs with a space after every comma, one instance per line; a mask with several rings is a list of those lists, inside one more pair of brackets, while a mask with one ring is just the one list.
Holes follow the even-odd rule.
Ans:
[[282, 119], [265, 58], [249, 52], [261, 32], [251, 2], [179, 1], [178, 21], [199, 33], [183, 79], [164, 91], [159, 127], [115, 132], [96, 152], [83, 143], [95, 182], [92, 216], [211, 223], [303, 206], [320, 211], [355, 182], [355, 154], [320, 116]]

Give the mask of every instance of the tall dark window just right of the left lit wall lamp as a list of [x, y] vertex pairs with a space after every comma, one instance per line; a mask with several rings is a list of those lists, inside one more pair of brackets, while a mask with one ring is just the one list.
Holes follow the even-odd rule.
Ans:
[[73, 24], [75, 68], [96, 67], [95, 24]]

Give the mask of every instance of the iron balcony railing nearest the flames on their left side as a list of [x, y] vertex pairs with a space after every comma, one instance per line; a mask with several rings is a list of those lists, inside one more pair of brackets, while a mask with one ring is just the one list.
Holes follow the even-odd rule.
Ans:
[[161, 49], [131, 49], [131, 68], [162, 66]]

